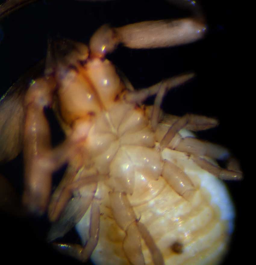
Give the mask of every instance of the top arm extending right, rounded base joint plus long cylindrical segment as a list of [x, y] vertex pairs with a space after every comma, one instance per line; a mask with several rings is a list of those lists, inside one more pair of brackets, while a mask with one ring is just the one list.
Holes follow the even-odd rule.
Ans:
[[164, 48], [187, 44], [201, 39], [205, 29], [204, 24], [189, 18], [174, 21], [145, 21], [119, 28], [103, 25], [90, 40], [90, 56], [105, 57], [120, 43], [134, 49]]

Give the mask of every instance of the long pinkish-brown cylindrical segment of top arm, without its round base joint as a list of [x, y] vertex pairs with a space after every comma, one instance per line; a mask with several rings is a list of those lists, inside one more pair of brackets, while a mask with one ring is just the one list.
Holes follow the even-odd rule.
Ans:
[[[134, 23], [115, 29], [120, 42], [129, 48], [164, 48], [201, 39], [205, 26], [196, 20], [158, 20]], [[152, 38], [152, 36], [154, 36]]]

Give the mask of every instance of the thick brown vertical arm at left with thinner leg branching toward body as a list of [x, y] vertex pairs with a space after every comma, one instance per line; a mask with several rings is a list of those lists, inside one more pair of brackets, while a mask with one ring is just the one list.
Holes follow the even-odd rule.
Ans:
[[81, 138], [76, 130], [61, 145], [52, 149], [51, 132], [44, 108], [52, 105], [55, 82], [37, 79], [25, 96], [23, 203], [38, 214], [45, 212], [50, 198], [52, 173], [79, 150]]

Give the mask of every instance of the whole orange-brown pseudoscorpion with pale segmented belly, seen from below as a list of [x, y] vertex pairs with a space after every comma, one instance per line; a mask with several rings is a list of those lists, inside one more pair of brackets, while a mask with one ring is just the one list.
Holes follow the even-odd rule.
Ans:
[[[82, 261], [91, 257], [97, 265], [220, 262], [234, 213], [217, 178], [241, 179], [241, 172], [233, 164], [220, 168], [215, 159], [226, 157], [227, 150], [191, 132], [215, 127], [215, 119], [160, 110], [166, 92], [194, 74], [133, 91], [105, 58], [119, 44], [171, 47], [196, 41], [204, 31], [195, 19], [158, 20], [103, 25], [88, 46], [49, 42], [44, 76], [33, 80], [22, 101], [25, 118], [17, 138], [23, 143], [23, 203], [32, 212], [48, 211], [49, 241], [60, 240], [73, 226], [80, 235], [81, 245], [55, 243], [59, 251]], [[144, 106], [152, 95], [154, 105]], [[3, 100], [2, 110], [8, 104]], [[46, 107], [66, 135], [55, 148]], [[1, 160], [10, 159], [17, 153], [15, 137], [9, 140], [2, 132]], [[66, 162], [51, 195], [51, 176]]]

